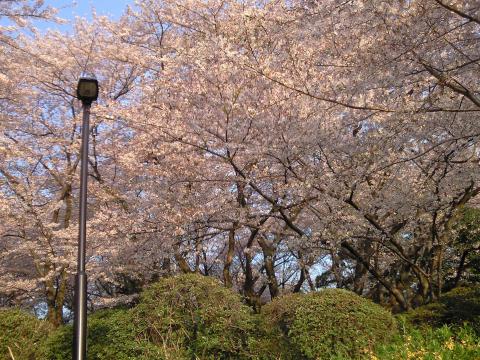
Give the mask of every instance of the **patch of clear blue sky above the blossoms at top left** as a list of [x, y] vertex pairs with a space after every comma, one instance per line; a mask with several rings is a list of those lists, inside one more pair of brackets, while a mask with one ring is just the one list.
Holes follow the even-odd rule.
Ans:
[[[69, 21], [74, 20], [77, 16], [90, 19], [93, 8], [98, 15], [118, 19], [127, 5], [134, 5], [134, 0], [45, 0], [45, 5], [59, 9], [58, 16]], [[71, 25], [69, 24], [38, 22], [35, 25], [42, 31], [50, 28], [62, 32], [71, 32]]]

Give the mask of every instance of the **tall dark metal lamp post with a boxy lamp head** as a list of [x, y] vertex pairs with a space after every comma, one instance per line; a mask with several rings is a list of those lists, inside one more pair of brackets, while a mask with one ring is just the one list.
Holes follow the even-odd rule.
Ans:
[[78, 232], [77, 274], [75, 276], [75, 316], [73, 326], [73, 360], [85, 360], [87, 354], [87, 275], [85, 249], [87, 240], [87, 181], [88, 137], [90, 134], [90, 107], [98, 98], [98, 81], [93, 77], [80, 77], [77, 97], [82, 101], [82, 150], [80, 170], [80, 216]]

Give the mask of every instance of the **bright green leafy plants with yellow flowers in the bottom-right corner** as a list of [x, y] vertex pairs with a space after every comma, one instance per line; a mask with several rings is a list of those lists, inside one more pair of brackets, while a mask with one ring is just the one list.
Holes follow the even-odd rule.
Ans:
[[469, 326], [415, 328], [400, 317], [401, 333], [380, 345], [370, 359], [382, 360], [471, 360], [480, 359], [480, 338]]

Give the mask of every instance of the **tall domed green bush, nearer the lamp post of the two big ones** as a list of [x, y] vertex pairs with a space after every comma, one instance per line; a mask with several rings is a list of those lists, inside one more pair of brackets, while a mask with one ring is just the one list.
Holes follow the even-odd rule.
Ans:
[[172, 359], [252, 356], [251, 310], [213, 278], [185, 274], [162, 279], [144, 291], [134, 313], [146, 338], [166, 354], [174, 352]]

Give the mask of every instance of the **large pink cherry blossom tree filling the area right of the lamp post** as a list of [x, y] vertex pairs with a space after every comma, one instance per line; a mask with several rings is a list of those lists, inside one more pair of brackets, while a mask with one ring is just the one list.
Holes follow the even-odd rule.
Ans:
[[[204, 191], [215, 194], [227, 285], [236, 261], [245, 294], [262, 276], [259, 294], [275, 289], [267, 254], [281, 246], [263, 227], [278, 226], [276, 241], [288, 243], [298, 264], [294, 290], [313, 289], [310, 268], [329, 256], [337, 284], [348, 285], [338, 267], [350, 259], [355, 290], [367, 291], [369, 273], [403, 308], [417, 295], [440, 294], [449, 224], [478, 193], [476, 90], [469, 88], [478, 28], [474, 9], [452, 9], [436, 1], [143, 3], [136, 18], [145, 33], [171, 40], [147, 46], [162, 72], [146, 94], [141, 126], [163, 148], [145, 155], [153, 169], [169, 166], [166, 147], [200, 155], [198, 172], [208, 178], [189, 165], [182, 182], [209, 184], [195, 188], [204, 195], [197, 214], [210, 204]], [[179, 239], [198, 254], [198, 243]], [[254, 259], [262, 276], [252, 275]]]

